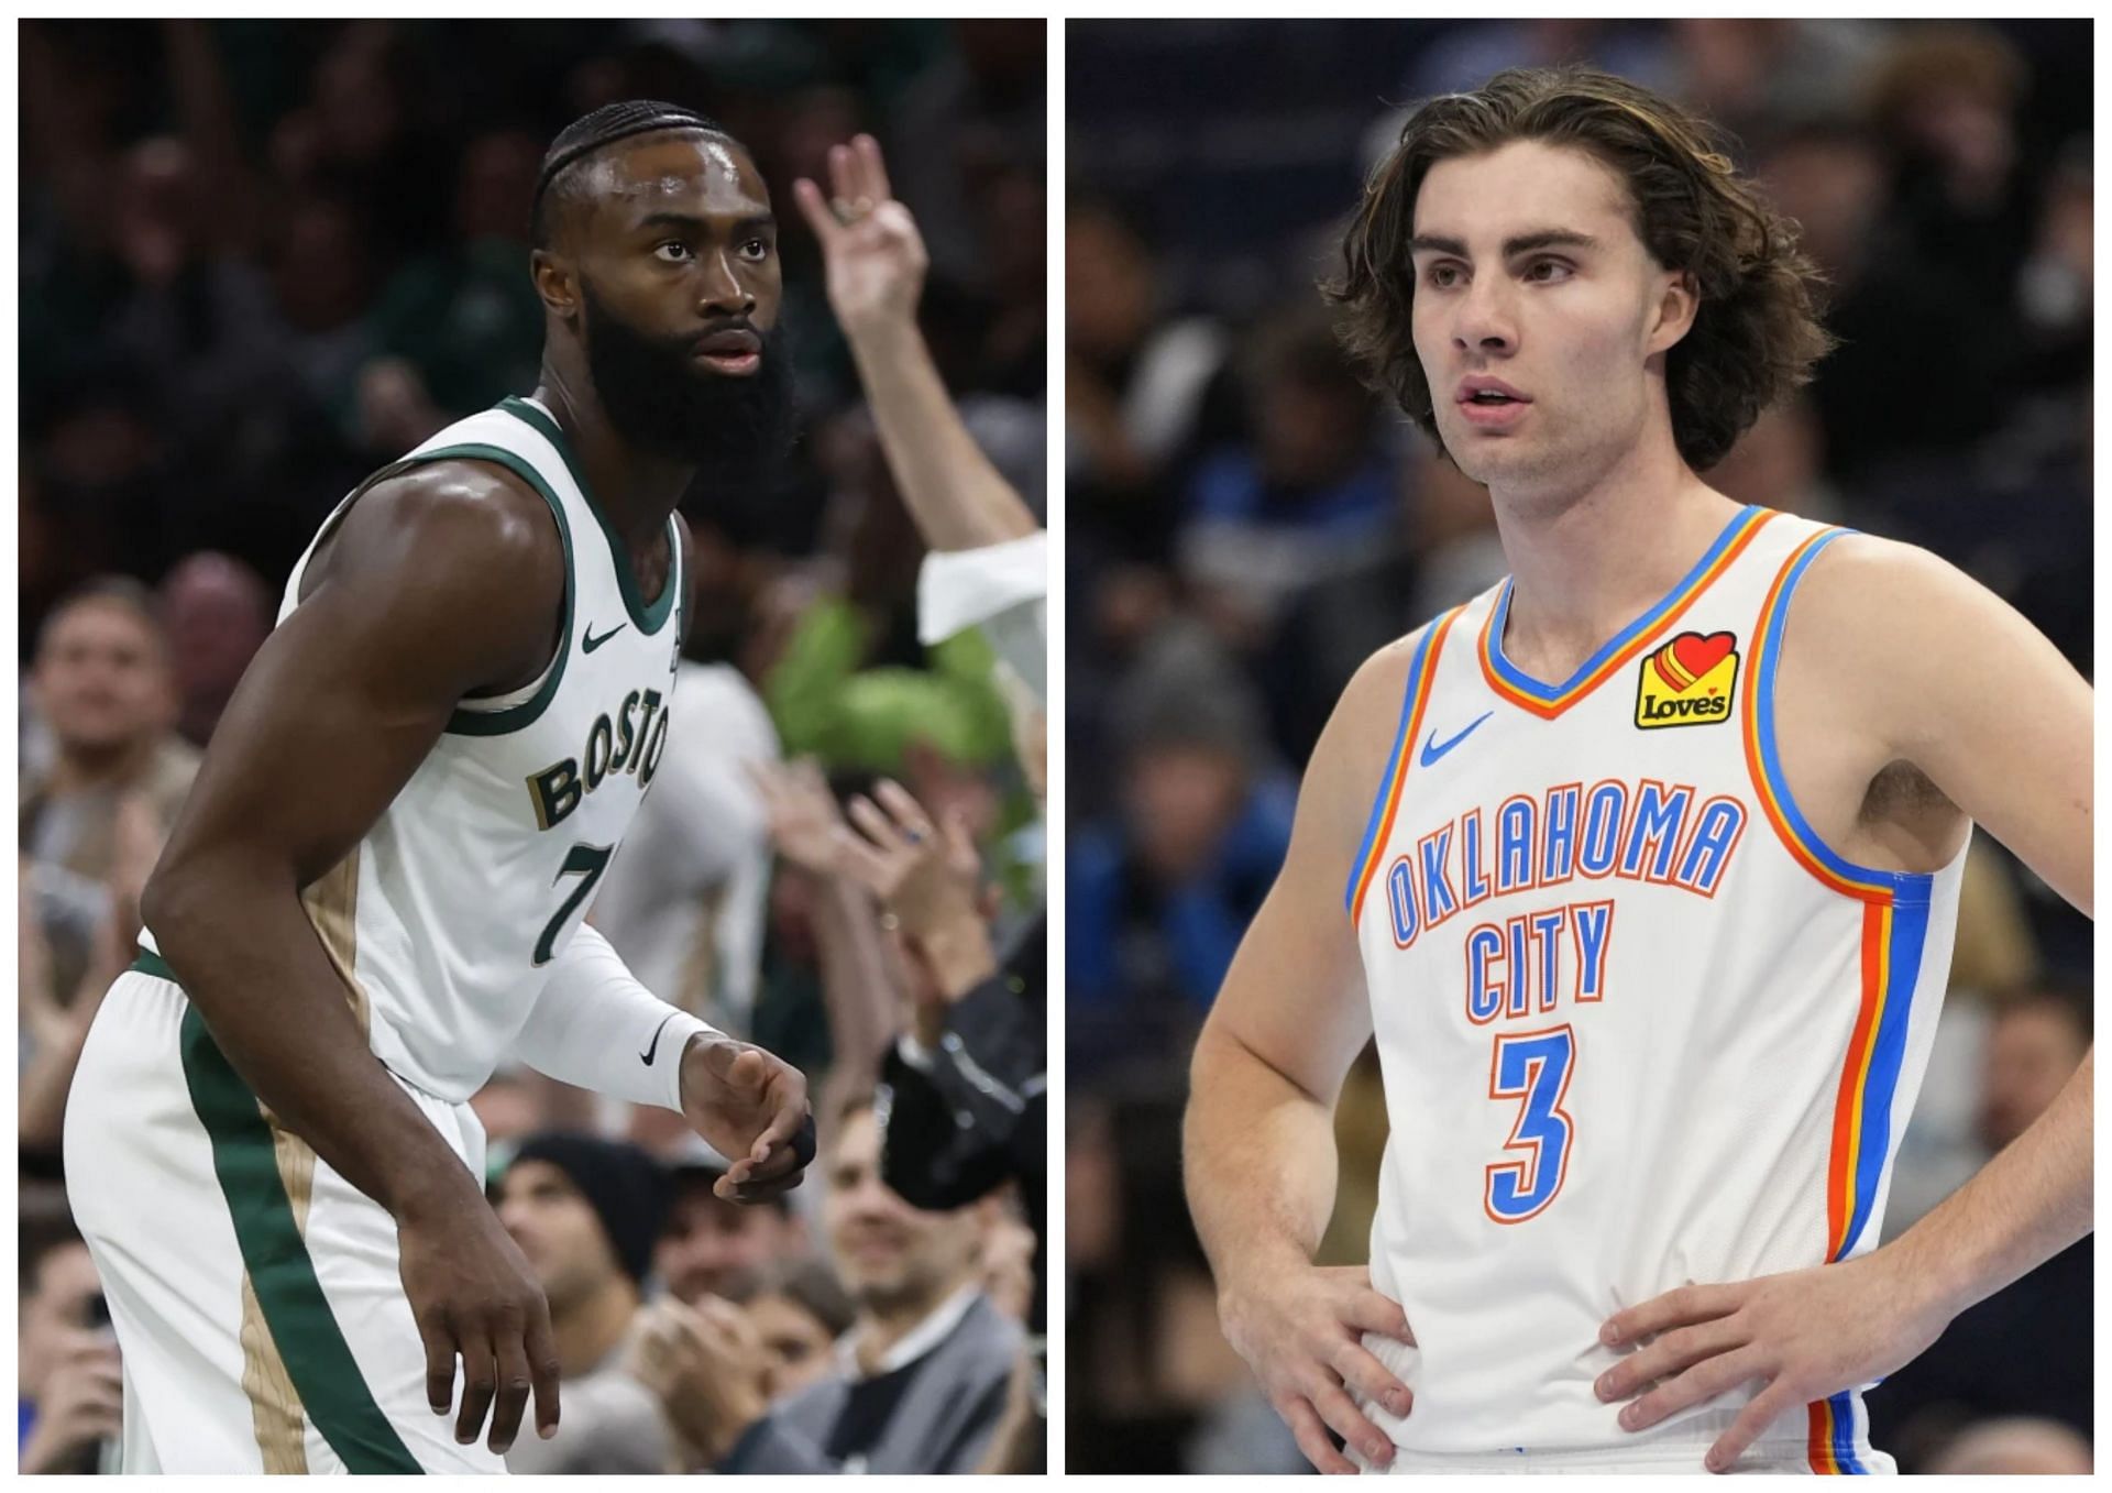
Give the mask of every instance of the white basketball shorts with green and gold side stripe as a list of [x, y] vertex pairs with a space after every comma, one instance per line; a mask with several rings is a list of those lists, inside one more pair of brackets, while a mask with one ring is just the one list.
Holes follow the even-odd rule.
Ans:
[[[471, 1109], [403, 1090], [482, 1176]], [[122, 1472], [505, 1472], [427, 1406], [395, 1221], [272, 1121], [150, 952], [89, 1028], [65, 1185], [125, 1360]]]

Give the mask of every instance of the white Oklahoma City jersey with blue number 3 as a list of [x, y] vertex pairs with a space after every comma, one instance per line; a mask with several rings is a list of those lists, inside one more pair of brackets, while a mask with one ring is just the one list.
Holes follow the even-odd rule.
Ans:
[[[1371, 1278], [1417, 1339], [1381, 1354], [1415, 1390], [1381, 1425], [1409, 1451], [1641, 1451], [1592, 1392], [1605, 1318], [1878, 1244], [1964, 851], [1852, 866], [1789, 796], [1776, 661], [1842, 532], [1742, 509], [1559, 686], [1504, 659], [1510, 581], [1417, 640], [1347, 887], [1392, 1121]], [[1692, 1440], [1700, 1470], [1751, 1394], [1649, 1455]], [[1873, 1461], [1861, 1392], [1764, 1440]]]

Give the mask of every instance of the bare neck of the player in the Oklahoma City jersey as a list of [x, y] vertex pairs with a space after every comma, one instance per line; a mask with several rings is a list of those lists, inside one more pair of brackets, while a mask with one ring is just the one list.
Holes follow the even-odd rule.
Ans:
[[1571, 492], [1489, 496], [1512, 574], [1504, 653], [1544, 680], [1567, 678], [1656, 606], [1738, 511], [1671, 439]]

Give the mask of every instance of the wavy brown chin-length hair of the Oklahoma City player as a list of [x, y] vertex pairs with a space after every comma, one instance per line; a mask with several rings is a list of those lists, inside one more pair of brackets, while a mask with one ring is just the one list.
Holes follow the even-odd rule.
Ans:
[[1700, 308], [1666, 357], [1666, 393], [1681, 458], [1696, 471], [1715, 467], [1833, 346], [1818, 325], [1818, 268], [1797, 251], [1795, 224], [1736, 175], [1711, 125], [1607, 72], [1512, 68], [1476, 93], [1415, 110], [1364, 184], [1341, 241], [1341, 279], [1320, 287], [1343, 308], [1343, 346], [1373, 389], [1436, 441], [1409, 315], [1415, 194], [1438, 160], [1516, 139], [1588, 150], [1611, 167], [1628, 184], [1637, 237], [1660, 266], [1694, 277]]

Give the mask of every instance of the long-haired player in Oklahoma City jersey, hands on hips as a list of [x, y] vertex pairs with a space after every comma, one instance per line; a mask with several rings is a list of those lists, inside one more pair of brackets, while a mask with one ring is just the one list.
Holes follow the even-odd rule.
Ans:
[[[2091, 693], [1943, 562], [1702, 481], [1825, 338], [1664, 99], [1434, 99], [1343, 249], [1512, 574], [1350, 682], [1202, 1033], [1225, 1330], [1331, 1472], [1888, 1470], [1859, 1392], [2091, 1227], [2085, 1060], [1875, 1248], [1973, 824], [2091, 908]], [[1371, 1037], [1366, 1278], [1309, 1256]]]

